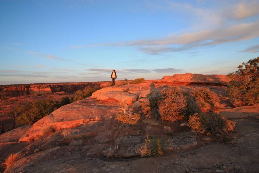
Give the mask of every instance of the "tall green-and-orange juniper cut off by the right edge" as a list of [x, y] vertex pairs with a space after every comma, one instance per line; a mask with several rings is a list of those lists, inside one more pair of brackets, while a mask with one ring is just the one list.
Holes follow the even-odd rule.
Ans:
[[242, 63], [235, 73], [228, 74], [228, 98], [237, 106], [259, 104], [259, 57]]

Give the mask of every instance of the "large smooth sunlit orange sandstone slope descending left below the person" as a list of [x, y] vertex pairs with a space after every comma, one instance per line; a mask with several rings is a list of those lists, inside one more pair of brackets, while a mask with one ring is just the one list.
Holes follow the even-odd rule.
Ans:
[[19, 141], [37, 140], [44, 135], [42, 127], [53, 126], [55, 130], [75, 128], [82, 123], [98, 117], [107, 119], [117, 113], [117, 104], [97, 99], [83, 99], [72, 104], [62, 106], [52, 112], [54, 117], [47, 115], [33, 124]]

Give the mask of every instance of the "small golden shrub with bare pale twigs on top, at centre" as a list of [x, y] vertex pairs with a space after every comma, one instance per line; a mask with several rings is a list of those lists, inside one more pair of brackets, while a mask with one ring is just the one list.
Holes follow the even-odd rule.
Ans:
[[132, 112], [125, 100], [119, 102], [119, 110], [116, 114], [116, 119], [121, 123], [123, 127], [127, 124], [136, 124], [140, 119], [140, 115]]

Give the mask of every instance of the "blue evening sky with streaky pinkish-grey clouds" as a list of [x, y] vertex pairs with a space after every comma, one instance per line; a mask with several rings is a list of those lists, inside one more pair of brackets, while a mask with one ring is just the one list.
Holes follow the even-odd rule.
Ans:
[[228, 74], [259, 56], [259, 1], [1, 0], [0, 84]]

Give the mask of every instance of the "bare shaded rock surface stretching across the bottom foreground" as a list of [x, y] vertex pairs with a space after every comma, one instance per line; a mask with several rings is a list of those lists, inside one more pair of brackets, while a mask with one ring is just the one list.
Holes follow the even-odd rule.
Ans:
[[87, 151], [68, 151], [68, 147], [60, 146], [22, 157], [7, 172], [256, 173], [259, 171], [259, 124], [250, 119], [236, 122], [239, 133], [235, 134], [233, 144], [211, 143], [172, 156], [125, 160], [88, 157]]

